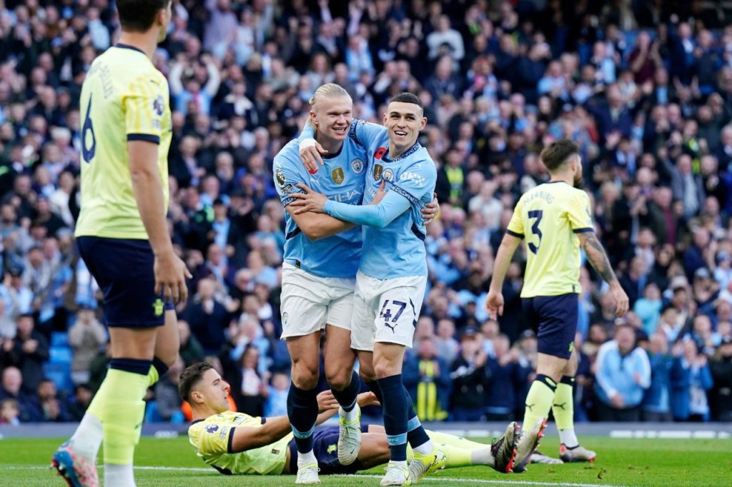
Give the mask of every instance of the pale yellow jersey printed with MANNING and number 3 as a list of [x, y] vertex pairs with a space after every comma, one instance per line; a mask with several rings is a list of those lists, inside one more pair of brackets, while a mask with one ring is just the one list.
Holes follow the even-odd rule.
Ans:
[[529, 249], [522, 298], [580, 293], [580, 239], [594, 232], [590, 200], [563, 181], [540, 184], [518, 200], [507, 233]]

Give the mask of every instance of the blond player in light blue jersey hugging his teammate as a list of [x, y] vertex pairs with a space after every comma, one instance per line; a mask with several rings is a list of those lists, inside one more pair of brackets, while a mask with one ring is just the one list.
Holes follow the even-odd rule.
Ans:
[[[315, 90], [310, 100], [308, 125], [315, 127], [318, 143], [332, 154], [324, 158], [325, 170], [308, 174], [300, 162], [296, 141], [283, 147], [274, 160], [275, 186], [286, 209], [282, 337], [287, 340], [293, 363], [288, 416], [298, 450], [296, 483], [318, 482], [312, 434], [318, 412], [315, 385], [324, 327], [326, 378], [341, 406], [340, 463], [353, 463], [361, 444], [360, 410], [355, 402], [360, 380], [353, 373], [356, 354], [351, 350], [350, 327], [362, 229], [325, 214], [294, 214], [291, 207], [293, 195], [302, 192], [296, 184], [307, 184], [339, 203], [362, 203], [366, 154], [362, 145], [347, 137], [352, 104], [348, 93], [332, 83]], [[371, 202], [379, 200], [376, 196]], [[432, 218], [436, 207], [436, 203], [430, 203], [422, 216]]]

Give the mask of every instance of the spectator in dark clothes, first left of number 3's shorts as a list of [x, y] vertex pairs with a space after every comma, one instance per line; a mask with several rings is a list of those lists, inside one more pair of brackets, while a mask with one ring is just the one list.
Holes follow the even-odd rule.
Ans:
[[452, 362], [450, 379], [450, 419], [454, 421], [479, 421], [485, 407], [485, 389], [488, 385], [488, 358], [480, 347], [481, 337], [475, 328], [468, 327], [460, 337], [460, 355]]

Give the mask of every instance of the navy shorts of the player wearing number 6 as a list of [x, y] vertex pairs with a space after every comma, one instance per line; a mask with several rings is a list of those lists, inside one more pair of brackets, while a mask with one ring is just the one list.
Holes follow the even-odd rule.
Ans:
[[107, 326], [150, 328], [165, 323], [165, 310], [174, 307], [155, 294], [154, 254], [148, 241], [83, 236], [76, 245], [104, 293]]

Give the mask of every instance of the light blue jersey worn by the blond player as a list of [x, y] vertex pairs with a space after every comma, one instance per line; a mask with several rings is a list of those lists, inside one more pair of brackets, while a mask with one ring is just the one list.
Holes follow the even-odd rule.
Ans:
[[[298, 140], [291, 140], [275, 156], [273, 176], [277, 194], [286, 207], [294, 201], [298, 183], [326, 195], [333, 201], [360, 205], [366, 176], [366, 153], [362, 146], [346, 137], [340, 152], [324, 157], [324, 167], [309, 174], [302, 164]], [[354, 277], [361, 260], [362, 230], [359, 227], [331, 237], [311, 241], [285, 211], [286, 263], [321, 277]]]

